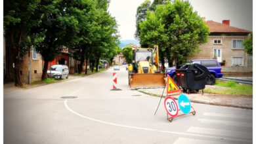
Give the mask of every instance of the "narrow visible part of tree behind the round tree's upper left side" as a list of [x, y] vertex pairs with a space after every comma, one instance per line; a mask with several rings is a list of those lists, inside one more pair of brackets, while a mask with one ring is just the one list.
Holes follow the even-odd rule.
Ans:
[[139, 23], [146, 19], [146, 12], [150, 9], [150, 0], [145, 0], [138, 8], [136, 13], [136, 31], [135, 38], [139, 39], [140, 27]]

